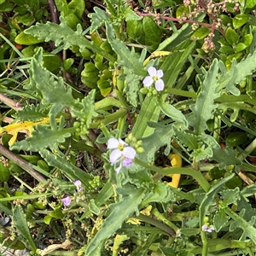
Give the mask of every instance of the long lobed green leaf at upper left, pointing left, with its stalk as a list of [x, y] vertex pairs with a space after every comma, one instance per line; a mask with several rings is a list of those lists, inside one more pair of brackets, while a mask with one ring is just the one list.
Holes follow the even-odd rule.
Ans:
[[83, 52], [86, 48], [91, 49], [92, 51], [103, 55], [108, 61], [114, 62], [112, 55], [106, 53], [99, 46], [92, 44], [82, 35], [83, 29], [80, 25], [77, 27], [77, 32], [74, 32], [72, 28], [67, 26], [67, 22], [62, 16], [60, 17], [60, 20], [60, 25], [49, 21], [46, 24], [37, 23], [37, 25], [29, 27], [24, 32], [39, 40], [44, 39], [45, 42], [54, 41], [55, 46], [62, 44], [63, 49], [68, 49], [73, 45], [79, 46], [80, 52]]

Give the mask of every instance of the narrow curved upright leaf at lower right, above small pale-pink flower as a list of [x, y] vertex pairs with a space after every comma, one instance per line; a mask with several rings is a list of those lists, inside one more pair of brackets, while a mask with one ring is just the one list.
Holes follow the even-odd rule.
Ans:
[[218, 183], [216, 183], [205, 195], [204, 199], [201, 201], [201, 205], [199, 207], [199, 222], [200, 226], [204, 224], [203, 219], [207, 216], [207, 211], [210, 205], [212, 204], [214, 197], [219, 189], [229, 181], [232, 177], [234, 177], [234, 173], [231, 174], [228, 177], [224, 177], [222, 180], [220, 180]]

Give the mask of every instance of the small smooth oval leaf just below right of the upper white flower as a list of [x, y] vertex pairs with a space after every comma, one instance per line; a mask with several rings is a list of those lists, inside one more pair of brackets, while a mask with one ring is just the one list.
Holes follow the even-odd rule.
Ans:
[[161, 108], [161, 111], [165, 113], [168, 117], [173, 119], [173, 121], [177, 123], [181, 123], [184, 128], [187, 128], [189, 126], [189, 123], [183, 113], [177, 108], [173, 107], [171, 104], [168, 104], [166, 102], [159, 102], [159, 106]]

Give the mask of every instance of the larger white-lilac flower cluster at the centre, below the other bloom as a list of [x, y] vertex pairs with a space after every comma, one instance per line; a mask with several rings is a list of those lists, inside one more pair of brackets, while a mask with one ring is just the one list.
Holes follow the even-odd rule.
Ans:
[[111, 166], [119, 162], [119, 167], [115, 170], [117, 173], [120, 172], [122, 166], [131, 166], [136, 155], [134, 148], [129, 147], [123, 140], [116, 138], [108, 139], [108, 148], [113, 149], [109, 156]]

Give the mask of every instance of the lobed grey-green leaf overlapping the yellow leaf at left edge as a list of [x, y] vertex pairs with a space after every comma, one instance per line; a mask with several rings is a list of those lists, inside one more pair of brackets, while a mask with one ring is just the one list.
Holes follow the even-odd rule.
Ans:
[[26, 137], [25, 140], [15, 143], [12, 149], [25, 149], [38, 152], [43, 148], [55, 148], [56, 143], [64, 143], [66, 137], [70, 137], [71, 133], [63, 129], [64, 118], [61, 116], [59, 127], [56, 125], [55, 117], [49, 115], [49, 124], [51, 129], [44, 125], [37, 125], [36, 130], [32, 131], [32, 137]]

